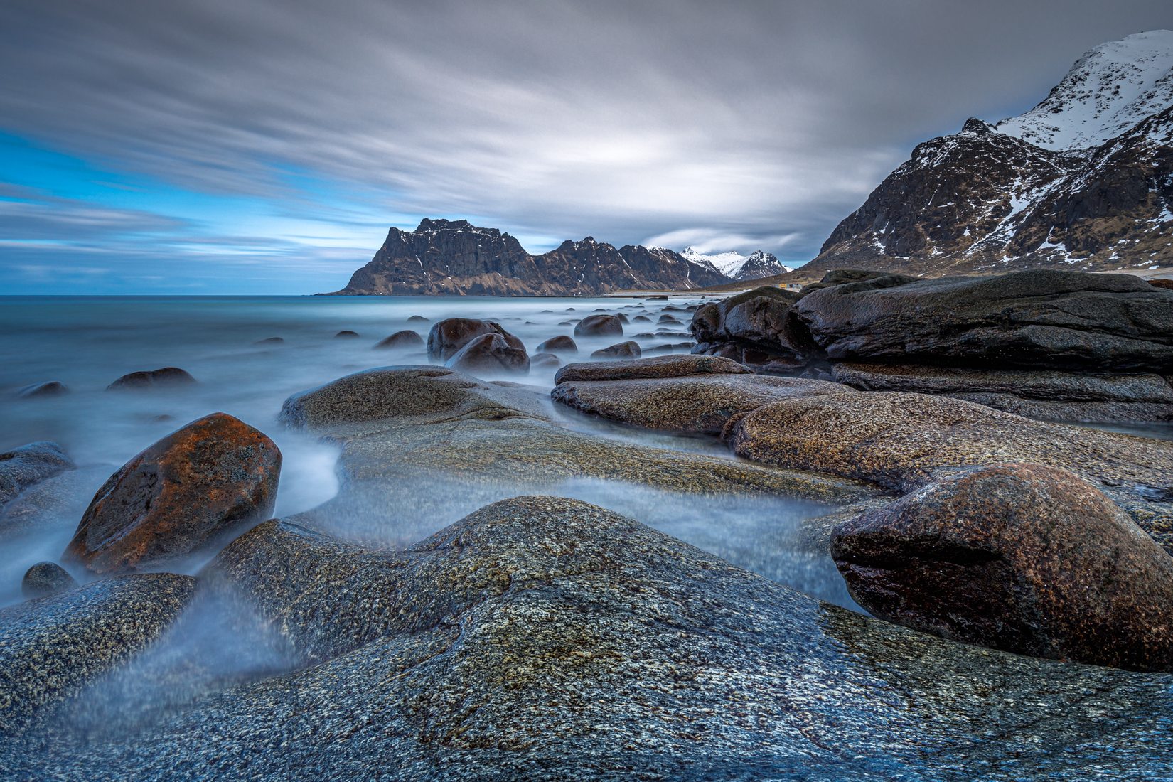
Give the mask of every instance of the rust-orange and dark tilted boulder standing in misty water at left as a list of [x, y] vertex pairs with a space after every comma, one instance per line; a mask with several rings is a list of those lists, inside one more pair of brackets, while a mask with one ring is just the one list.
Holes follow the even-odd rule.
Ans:
[[63, 556], [95, 573], [184, 558], [267, 518], [280, 468], [273, 441], [243, 421], [192, 421], [110, 476]]

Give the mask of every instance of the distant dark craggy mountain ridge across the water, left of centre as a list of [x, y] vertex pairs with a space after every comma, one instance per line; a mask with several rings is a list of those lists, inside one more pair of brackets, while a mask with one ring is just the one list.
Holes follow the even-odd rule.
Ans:
[[728, 278], [663, 247], [586, 237], [531, 256], [514, 237], [468, 220], [425, 219], [391, 229], [339, 295], [597, 295], [630, 288], [689, 290]]

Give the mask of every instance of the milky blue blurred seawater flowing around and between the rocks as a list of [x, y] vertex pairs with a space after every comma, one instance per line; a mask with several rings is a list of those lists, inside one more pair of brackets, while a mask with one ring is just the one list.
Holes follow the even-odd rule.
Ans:
[[[59, 559], [94, 492], [111, 472], [189, 421], [219, 410], [272, 437], [284, 456], [274, 512], [290, 516], [338, 491], [338, 450], [312, 434], [278, 423], [282, 403], [291, 394], [353, 372], [427, 362], [422, 348], [377, 349], [382, 338], [404, 328], [426, 338], [430, 322], [447, 317], [487, 318], [518, 335], [533, 353], [550, 336], [571, 334], [577, 319], [608, 311], [650, 319], [626, 326], [622, 339], [633, 338], [645, 349], [674, 346], [676, 352], [686, 353], [689, 348], [679, 344], [689, 340], [687, 326], [656, 321], [670, 307], [667, 314], [687, 324], [690, 314], [679, 310], [689, 302], [633, 298], [0, 298], [0, 451], [48, 440], [60, 443], [79, 467], [52, 480], [52, 512], [34, 530], [6, 530], [4, 514], [13, 505], [0, 509], [0, 606], [22, 599], [20, 580], [28, 566]], [[428, 322], [408, 321], [413, 315]], [[335, 336], [343, 329], [359, 336]], [[642, 333], [652, 335], [637, 336]], [[257, 344], [272, 336], [283, 342]], [[577, 341], [582, 359], [619, 339]], [[126, 373], [167, 366], [188, 370], [197, 383], [150, 392], [106, 390]], [[509, 380], [533, 386], [544, 397], [554, 372], [535, 370]], [[18, 396], [25, 386], [54, 380], [69, 392]], [[560, 426], [647, 447], [733, 458], [713, 438], [621, 427], [547, 403]], [[420, 487], [420, 491], [435, 490], [434, 484]], [[833, 563], [792, 543], [802, 519], [827, 512], [826, 505], [762, 495], [682, 496], [635, 482], [585, 478], [565, 481], [556, 490], [637, 518], [780, 583], [857, 608]], [[524, 494], [508, 485], [499, 491], [501, 496]], [[467, 512], [455, 505], [446, 511], [442, 503], [439, 508], [434, 517], [423, 519], [426, 531], [439, 530]], [[346, 532], [331, 531], [344, 537]], [[195, 573], [212, 553], [169, 570]], [[83, 571], [73, 567], [72, 572], [86, 580]], [[245, 607], [202, 596], [152, 650], [63, 706], [62, 713], [65, 722], [82, 734], [129, 729], [130, 723], [149, 722], [156, 712], [202, 693], [296, 665], [280, 640]]]

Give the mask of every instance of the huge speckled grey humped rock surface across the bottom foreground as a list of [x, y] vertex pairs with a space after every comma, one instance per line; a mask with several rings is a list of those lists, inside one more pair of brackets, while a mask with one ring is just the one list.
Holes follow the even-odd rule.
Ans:
[[[404, 552], [269, 523], [209, 569], [310, 660], [21, 775], [1159, 776], [1173, 678], [1023, 658], [821, 604], [603, 509], [484, 508]], [[752, 608], [751, 608], [752, 606]], [[272, 752], [280, 747], [280, 752]]]

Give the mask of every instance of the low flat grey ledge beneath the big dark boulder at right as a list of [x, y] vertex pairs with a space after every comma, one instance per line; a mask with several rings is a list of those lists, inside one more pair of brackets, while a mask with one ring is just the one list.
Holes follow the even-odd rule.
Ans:
[[964, 369], [836, 363], [838, 382], [861, 390], [940, 394], [1051, 421], [1169, 421], [1173, 386], [1157, 374]]

